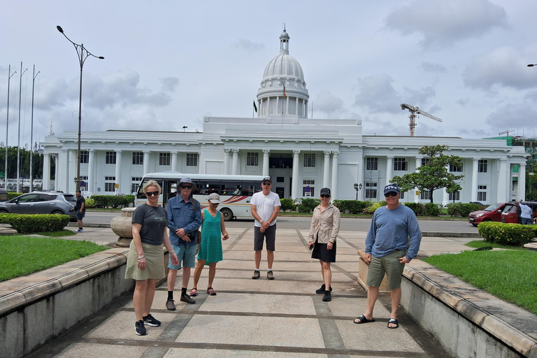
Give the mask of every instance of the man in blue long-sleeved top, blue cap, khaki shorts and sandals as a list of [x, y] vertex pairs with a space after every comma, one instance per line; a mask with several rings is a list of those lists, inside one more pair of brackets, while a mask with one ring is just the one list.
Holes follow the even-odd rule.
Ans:
[[397, 183], [386, 185], [384, 196], [387, 205], [378, 208], [373, 214], [364, 256], [364, 261], [369, 265], [366, 280], [367, 308], [366, 313], [355, 320], [357, 324], [375, 322], [373, 308], [378, 299], [378, 287], [386, 274], [392, 300], [388, 328], [399, 327], [397, 309], [401, 301], [403, 268], [416, 257], [422, 241], [422, 231], [416, 215], [408, 206], [399, 203], [400, 195]]

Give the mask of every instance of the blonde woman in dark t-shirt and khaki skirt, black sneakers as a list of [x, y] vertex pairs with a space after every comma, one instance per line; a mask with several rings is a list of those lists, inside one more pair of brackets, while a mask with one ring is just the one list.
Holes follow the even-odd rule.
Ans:
[[149, 180], [145, 183], [143, 192], [148, 202], [138, 206], [132, 215], [132, 241], [125, 271], [125, 278], [136, 280], [132, 303], [136, 315], [134, 331], [138, 336], [148, 333], [145, 325], [158, 327], [161, 324], [151, 315], [150, 310], [155, 297], [155, 285], [158, 280], [166, 277], [162, 264], [162, 244], [170, 252], [171, 262], [179, 263], [166, 230], [166, 210], [158, 205], [162, 192], [160, 185], [155, 180]]

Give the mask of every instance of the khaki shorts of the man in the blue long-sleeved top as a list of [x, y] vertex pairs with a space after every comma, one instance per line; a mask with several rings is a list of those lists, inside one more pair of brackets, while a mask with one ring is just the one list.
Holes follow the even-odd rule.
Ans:
[[406, 252], [395, 250], [384, 257], [371, 256], [371, 264], [367, 271], [366, 285], [380, 287], [384, 274], [388, 278], [388, 289], [396, 289], [401, 287], [401, 276], [405, 264], [399, 262], [399, 258], [406, 255]]

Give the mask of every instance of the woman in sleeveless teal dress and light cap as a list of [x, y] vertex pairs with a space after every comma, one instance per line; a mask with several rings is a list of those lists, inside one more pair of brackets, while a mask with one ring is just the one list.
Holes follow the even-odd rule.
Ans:
[[222, 261], [222, 235], [224, 240], [229, 238], [226, 227], [224, 226], [224, 215], [217, 210], [220, 196], [216, 193], [209, 195], [209, 206], [201, 211], [201, 244], [199, 245], [198, 264], [194, 271], [194, 286], [190, 291], [190, 296], [197, 296], [198, 281], [203, 266], [209, 266], [209, 284], [207, 293], [216, 296], [213, 289], [213, 280], [215, 279], [216, 263]]

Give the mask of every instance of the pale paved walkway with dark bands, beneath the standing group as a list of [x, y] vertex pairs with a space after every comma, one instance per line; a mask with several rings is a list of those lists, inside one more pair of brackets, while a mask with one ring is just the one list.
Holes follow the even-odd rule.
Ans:
[[[375, 306], [377, 322], [352, 322], [366, 308], [366, 292], [357, 284], [357, 250], [364, 248], [366, 233], [340, 233], [333, 299], [323, 302], [315, 294], [322, 283], [320, 264], [306, 248], [307, 231], [278, 230], [275, 280], [266, 279], [265, 253], [262, 277], [251, 279], [251, 223], [228, 231], [216, 296], [205, 293], [206, 267], [196, 304], [178, 301], [179, 274], [177, 310], [166, 310], [166, 285], [157, 287], [152, 315], [162, 326], [147, 327], [146, 336], [134, 333], [132, 297], [126, 295], [29, 357], [450, 357], [402, 309], [399, 329], [387, 329], [388, 296]], [[74, 238], [111, 243], [116, 236], [90, 227]], [[459, 252], [474, 239], [424, 237], [420, 253]]]

